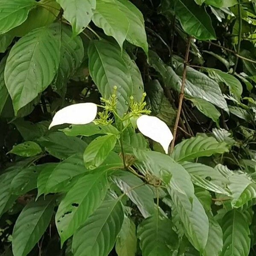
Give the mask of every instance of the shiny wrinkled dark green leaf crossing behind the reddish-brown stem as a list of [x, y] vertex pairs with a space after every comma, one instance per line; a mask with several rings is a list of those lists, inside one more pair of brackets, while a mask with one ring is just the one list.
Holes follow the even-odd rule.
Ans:
[[[172, 87], [180, 93], [183, 73], [182, 60], [177, 56], [173, 56], [173, 67], [175, 68], [173, 69], [170, 66], [166, 66], [155, 52], [150, 51], [149, 62], [163, 77], [166, 86]], [[184, 93], [185, 96], [204, 99], [229, 112], [227, 102], [221, 93], [218, 83], [192, 67], [187, 67]]]

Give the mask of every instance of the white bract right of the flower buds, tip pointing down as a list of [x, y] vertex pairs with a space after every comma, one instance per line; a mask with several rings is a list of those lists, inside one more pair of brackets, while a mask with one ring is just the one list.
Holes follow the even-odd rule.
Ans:
[[165, 122], [155, 116], [142, 115], [137, 119], [137, 126], [143, 135], [160, 143], [166, 154], [168, 154], [168, 148], [173, 136]]

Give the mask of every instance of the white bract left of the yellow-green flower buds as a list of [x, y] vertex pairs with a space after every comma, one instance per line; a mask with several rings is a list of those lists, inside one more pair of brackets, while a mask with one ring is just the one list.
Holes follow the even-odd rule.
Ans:
[[55, 125], [73, 124], [85, 125], [92, 122], [97, 115], [97, 105], [94, 103], [79, 103], [59, 110], [53, 116], [49, 129]]

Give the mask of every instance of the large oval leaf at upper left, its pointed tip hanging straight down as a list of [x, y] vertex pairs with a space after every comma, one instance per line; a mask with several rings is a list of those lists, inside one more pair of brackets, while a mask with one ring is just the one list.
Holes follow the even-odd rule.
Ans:
[[4, 78], [15, 115], [50, 84], [58, 69], [59, 54], [58, 42], [47, 27], [33, 30], [12, 47]]

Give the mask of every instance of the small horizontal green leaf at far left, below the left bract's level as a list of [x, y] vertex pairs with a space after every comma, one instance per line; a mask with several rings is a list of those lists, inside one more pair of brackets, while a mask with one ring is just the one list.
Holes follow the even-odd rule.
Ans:
[[9, 153], [16, 154], [21, 157], [32, 157], [42, 152], [41, 147], [33, 141], [25, 141], [12, 148]]

